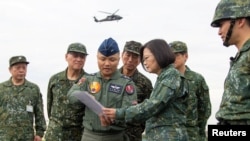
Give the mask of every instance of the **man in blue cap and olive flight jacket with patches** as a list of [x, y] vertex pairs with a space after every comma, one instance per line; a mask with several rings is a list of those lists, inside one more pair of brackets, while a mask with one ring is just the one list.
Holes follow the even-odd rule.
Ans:
[[[68, 93], [70, 102], [82, 104], [74, 96], [75, 91], [81, 90], [88, 91], [105, 107], [120, 108], [135, 104], [137, 94], [134, 82], [119, 72], [119, 60], [120, 51], [116, 41], [112, 38], [105, 39], [97, 53], [99, 71], [74, 84]], [[124, 134], [124, 122], [116, 121], [109, 127], [102, 126], [99, 115], [88, 107], [85, 108], [83, 126], [82, 141], [128, 141]]]

